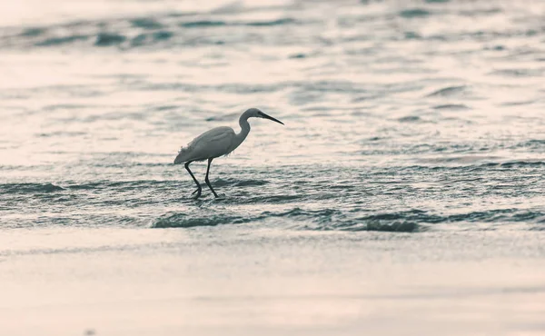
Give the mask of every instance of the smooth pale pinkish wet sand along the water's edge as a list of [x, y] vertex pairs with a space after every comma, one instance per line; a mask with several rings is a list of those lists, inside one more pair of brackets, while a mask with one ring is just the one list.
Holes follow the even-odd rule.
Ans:
[[0, 334], [541, 335], [544, 236], [3, 231]]

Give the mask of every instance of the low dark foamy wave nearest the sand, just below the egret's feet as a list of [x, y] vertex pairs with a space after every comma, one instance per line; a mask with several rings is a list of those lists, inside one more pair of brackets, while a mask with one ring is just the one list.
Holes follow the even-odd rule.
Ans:
[[[462, 222], [524, 222], [545, 221], [545, 212], [520, 209], [494, 209], [481, 212], [461, 212], [441, 215], [418, 209], [401, 212], [374, 213], [360, 218], [337, 209], [305, 210], [299, 207], [282, 212], [265, 211], [253, 215], [225, 213], [167, 213], [152, 223], [153, 228], [191, 228], [222, 224], [262, 222], [286, 219], [294, 230], [310, 231], [377, 231], [377, 232], [424, 232], [432, 224]], [[292, 224], [295, 224], [294, 226]], [[275, 225], [278, 225], [275, 223]]]

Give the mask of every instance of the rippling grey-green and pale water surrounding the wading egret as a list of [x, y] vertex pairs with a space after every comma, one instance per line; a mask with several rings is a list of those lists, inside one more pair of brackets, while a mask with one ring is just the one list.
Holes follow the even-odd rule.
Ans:
[[[544, 3], [19, 3], [0, 13], [8, 242], [76, 228], [210, 238], [227, 225], [242, 244], [266, 230], [350, 250], [375, 232], [494, 231], [533, 238], [494, 240], [490, 257], [543, 260]], [[238, 132], [251, 106], [285, 126], [251, 120], [213, 162], [222, 197], [194, 201], [178, 149], [215, 126]], [[6, 246], [0, 258], [17, 255]]]

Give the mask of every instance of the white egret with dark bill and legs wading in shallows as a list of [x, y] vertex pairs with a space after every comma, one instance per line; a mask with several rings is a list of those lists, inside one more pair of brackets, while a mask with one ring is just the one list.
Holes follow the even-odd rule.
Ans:
[[250, 124], [248, 124], [249, 118], [269, 119], [273, 122], [283, 124], [280, 120], [274, 119], [270, 115], [263, 114], [263, 112], [256, 108], [251, 108], [246, 110], [239, 119], [239, 124], [242, 129], [240, 133], [234, 133], [233, 128], [231, 127], [216, 127], [197, 136], [191, 143], [188, 143], [186, 147], [180, 149], [178, 156], [174, 159], [174, 164], [185, 163], [185, 169], [191, 175], [195, 184], [197, 184], [197, 190], [193, 192], [196, 193], [195, 199], [201, 196], [203, 188], [201, 188], [201, 184], [199, 184], [189, 169], [189, 165], [195, 161], [208, 160], [204, 182], [206, 182], [213, 195], [218, 197], [218, 194], [213, 190], [212, 184], [210, 184], [210, 180], [208, 179], [210, 164], [216, 157], [233, 152], [241, 143], [243, 143], [248, 133], [250, 133]]

